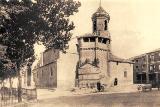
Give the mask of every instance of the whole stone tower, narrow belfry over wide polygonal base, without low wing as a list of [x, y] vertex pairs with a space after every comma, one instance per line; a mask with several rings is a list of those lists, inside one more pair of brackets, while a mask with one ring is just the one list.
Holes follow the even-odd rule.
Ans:
[[79, 61], [76, 80], [79, 87], [96, 87], [97, 82], [107, 84], [110, 76], [108, 58], [110, 53], [109, 14], [101, 7], [92, 15], [93, 32], [77, 38]]

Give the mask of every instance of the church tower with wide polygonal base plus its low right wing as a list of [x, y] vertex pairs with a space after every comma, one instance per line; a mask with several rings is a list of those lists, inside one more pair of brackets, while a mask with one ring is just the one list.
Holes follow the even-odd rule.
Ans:
[[104, 88], [133, 84], [133, 62], [113, 55], [109, 32], [110, 15], [100, 5], [92, 15], [93, 32], [77, 37], [79, 61], [76, 86]]

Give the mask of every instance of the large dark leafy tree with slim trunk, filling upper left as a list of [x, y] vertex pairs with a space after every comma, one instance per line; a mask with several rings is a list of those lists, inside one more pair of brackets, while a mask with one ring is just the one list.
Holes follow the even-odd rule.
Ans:
[[[4, 0], [3, 0], [4, 1]], [[34, 61], [34, 44], [42, 42], [46, 48], [67, 49], [74, 29], [69, 16], [78, 12], [80, 2], [73, 0], [10, 0], [0, 3], [5, 15], [0, 15], [0, 44], [7, 46], [6, 56], [16, 63], [18, 101], [21, 102], [20, 68]], [[2, 13], [2, 11], [0, 11]]]

